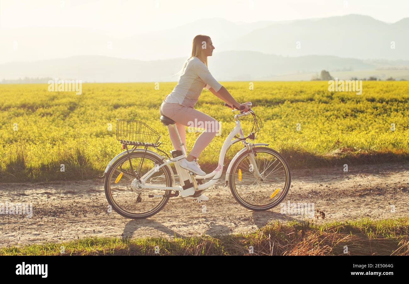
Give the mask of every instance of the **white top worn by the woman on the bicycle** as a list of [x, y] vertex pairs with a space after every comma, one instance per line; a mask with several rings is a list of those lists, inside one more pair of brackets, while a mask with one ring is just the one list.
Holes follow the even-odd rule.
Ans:
[[178, 84], [165, 97], [164, 102], [193, 108], [205, 87], [208, 90], [213, 88], [218, 92], [222, 85], [213, 78], [205, 63], [193, 56], [184, 63]]

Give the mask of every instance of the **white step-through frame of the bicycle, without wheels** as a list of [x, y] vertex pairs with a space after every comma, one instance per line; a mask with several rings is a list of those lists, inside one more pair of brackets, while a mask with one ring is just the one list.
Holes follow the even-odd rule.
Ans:
[[[217, 181], [219, 180], [219, 178], [222, 176], [222, 171], [223, 171], [223, 162], [225, 159], [225, 155], [227, 152], [227, 149], [229, 149], [229, 147], [240, 141], [240, 139], [235, 139], [232, 140], [234, 138], [234, 136], [236, 136], [237, 134], [240, 134], [240, 138], [244, 138], [243, 135], [243, 130], [241, 129], [241, 124], [240, 121], [238, 119], [236, 119], [236, 126], [234, 126], [234, 128], [232, 129], [232, 131], [229, 133], [229, 135], [226, 137], [225, 142], [223, 143], [222, 149], [220, 150], [220, 155], [219, 155], [219, 161], [218, 161], [218, 166], [216, 167], [216, 169], [214, 169], [210, 174], [207, 174], [206, 176], [195, 176], [192, 177], [192, 179], [194, 180], [193, 185], [195, 184], [196, 179], [205, 179], [205, 178], [212, 178], [211, 180], [209, 180], [207, 183], [203, 183], [200, 185], [196, 185], [196, 190], [194, 187], [189, 188], [189, 189], [185, 189], [182, 190], [181, 187], [164, 187], [164, 186], [153, 186], [153, 185], [146, 185], [145, 182], [146, 180], [148, 180], [148, 178], [150, 178], [156, 171], [158, 171], [161, 167], [164, 167], [166, 165], [169, 165], [173, 162], [176, 162], [178, 160], [181, 160], [182, 158], [186, 158], [187, 157], [187, 153], [186, 150], [184, 149], [182, 141], [180, 140], [180, 136], [179, 133], [177, 131], [177, 128], [175, 126], [175, 124], [172, 125], [173, 128], [175, 129], [177, 136], [178, 136], [178, 140], [180, 142], [180, 146], [182, 149], [182, 156], [178, 156], [173, 158], [173, 160], [166, 160], [162, 165], [158, 166], [158, 167], [154, 167], [153, 169], [151, 169], [150, 171], [148, 171], [144, 176], [142, 176], [141, 178], [141, 185], [140, 187], [142, 188], [149, 188], [149, 189], [163, 189], [163, 190], [178, 190], [180, 191], [180, 194], [182, 197], [186, 197], [189, 195], [192, 195], [195, 193], [195, 191], [199, 191], [199, 190], [204, 190], [204, 189], [208, 189], [209, 187], [215, 185], [217, 183]], [[244, 140], [243, 140], [244, 141]], [[244, 144], [244, 143], [243, 143]], [[184, 169], [183, 169], [184, 170]], [[258, 171], [257, 171], [258, 173]], [[179, 174], [179, 173], [178, 173]]]

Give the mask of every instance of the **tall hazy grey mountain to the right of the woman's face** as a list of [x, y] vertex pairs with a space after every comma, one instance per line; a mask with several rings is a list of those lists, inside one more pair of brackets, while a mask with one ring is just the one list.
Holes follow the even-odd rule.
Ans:
[[223, 48], [283, 56], [409, 60], [409, 18], [394, 24], [361, 15], [276, 23], [229, 41]]

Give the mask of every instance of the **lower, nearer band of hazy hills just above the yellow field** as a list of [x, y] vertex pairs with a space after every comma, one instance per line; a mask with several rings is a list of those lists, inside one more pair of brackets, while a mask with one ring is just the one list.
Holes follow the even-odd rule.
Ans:
[[[23, 77], [58, 77], [83, 82], [159, 82], [177, 81], [172, 76], [185, 58], [140, 61], [107, 56], [73, 56], [34, 62], [0, 64], [0, 80]], [[331, 71], [375, 70], [409, 66], [408, 61], [364, 62], [337, 56], [308, 55], [283, 57], [253, 51], [220, 52], [209, 57], [209, 70], [218, 81], [274, 80], [287, 74]], [[409, 72], [409, 71], [408, 71]], [[306, 78], [307, 80], [311, 77]]]

